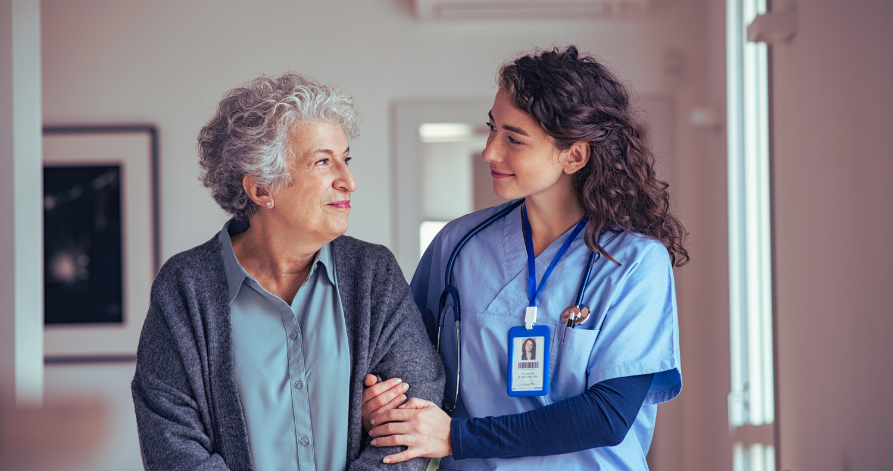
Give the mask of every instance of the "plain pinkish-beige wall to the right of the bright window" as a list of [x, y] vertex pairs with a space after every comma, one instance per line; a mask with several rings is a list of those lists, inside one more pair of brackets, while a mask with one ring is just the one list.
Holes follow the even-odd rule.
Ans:
[[782, 469], [890, 469], [893, 3], [797, 8], [772, 60]]

